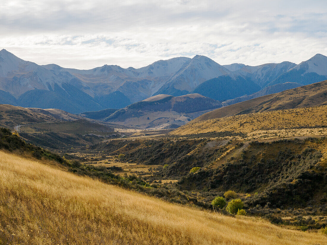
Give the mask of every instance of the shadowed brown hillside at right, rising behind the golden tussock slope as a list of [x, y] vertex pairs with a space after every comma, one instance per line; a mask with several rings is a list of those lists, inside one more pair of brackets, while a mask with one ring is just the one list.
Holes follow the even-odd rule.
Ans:
[[266, 110], [280, 110], [327, 104], [327, 80], [269, 94], [203, 114], [194, 122]]

